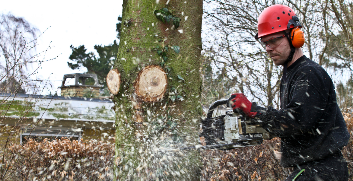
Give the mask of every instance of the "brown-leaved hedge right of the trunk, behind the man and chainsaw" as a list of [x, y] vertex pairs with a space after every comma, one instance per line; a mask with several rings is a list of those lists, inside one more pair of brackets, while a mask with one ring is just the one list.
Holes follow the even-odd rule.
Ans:
[[[343, 113], [349, 134], [353, 135], [352, 108]], [[279, 165], [280, 139], [264, 140], [262, 145], [243, 147], [229, 151], [202, 151], [204, 169], [201, 180], [285, 180], [291, 169]], [[347, 159], [349, 179], [353, 180], [353, 137], [343, 147], [343, 155]], [[276, 158], [277, 157], [277, 158]]]

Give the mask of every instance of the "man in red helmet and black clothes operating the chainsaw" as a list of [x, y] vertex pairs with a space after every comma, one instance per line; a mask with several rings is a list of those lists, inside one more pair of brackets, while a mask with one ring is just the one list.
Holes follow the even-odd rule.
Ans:
[[227, 105], [281, 138], [280, 164], [294, 167], [288, 181], [348, 180], [341, 153], [349, 139], [346, 123], [330, 76], [300, 48], [304, 34], [299, 19], [292, 8], [272, 5], [260, 14], [257, 27], [256, 40], [275, 65], [283, 66], [281, 109], [261, 108], [239, 93]]

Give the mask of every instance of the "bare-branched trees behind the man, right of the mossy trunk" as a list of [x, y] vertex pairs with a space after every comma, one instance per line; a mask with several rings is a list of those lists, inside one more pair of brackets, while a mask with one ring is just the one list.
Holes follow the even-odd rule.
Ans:
[[351, 107], [353, 5], [343, 0], [205, 0], [203, 105], [241, 92], [279, 107], [282, 66], [274, 66], [254, 38], [259, 14], [273, 4], [294, 9], [304, 26], [304, 53], [331, 75], [340, 107]]

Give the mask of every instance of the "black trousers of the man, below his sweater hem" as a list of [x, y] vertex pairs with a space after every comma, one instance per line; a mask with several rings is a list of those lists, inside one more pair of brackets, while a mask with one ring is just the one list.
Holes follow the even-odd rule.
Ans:
[[[305, 170], [300, 173], [303, 169]], [[299, 165], [286, 181], [293, 181], [294, 178], [295, 181], [347, 181], [347, 162], [339, 151], [323, 159]]]

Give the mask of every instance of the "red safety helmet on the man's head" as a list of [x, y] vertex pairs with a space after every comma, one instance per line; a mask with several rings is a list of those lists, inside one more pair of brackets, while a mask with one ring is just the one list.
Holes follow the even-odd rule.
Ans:
[[255, 39], [294, 27], [301, 28], [303, 26], [301, 26], [293, 9], [286, 5], [275, 4], [261, 12], [257, 21], [258, 34]]

